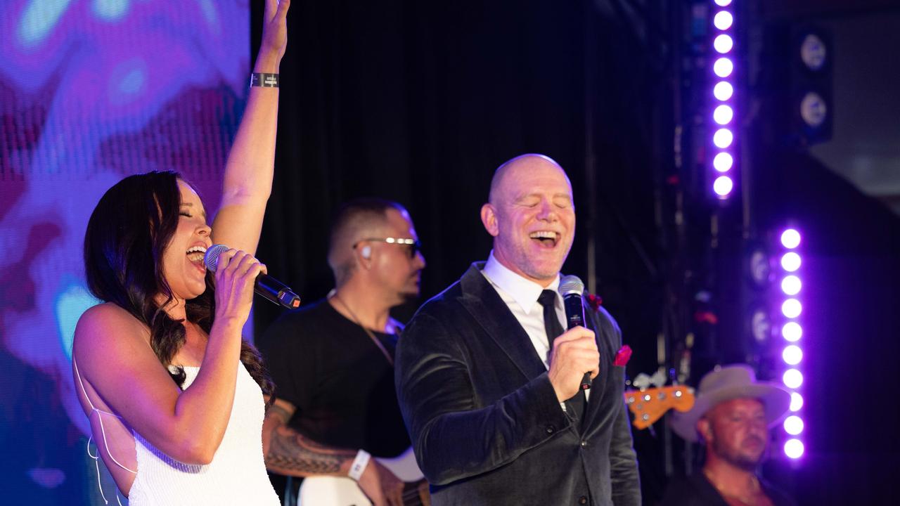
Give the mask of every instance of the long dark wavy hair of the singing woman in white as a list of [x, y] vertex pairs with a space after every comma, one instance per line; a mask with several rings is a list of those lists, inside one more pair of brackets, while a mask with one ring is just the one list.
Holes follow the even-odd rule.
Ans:
[[[181, 193], [177, 173], [148, 172], [122, 179], [103, 194], [87, 221], [85, 232], [85, 277], [94, 297], [115, 303], [150, 329], [150, 347], [169, 370], [172, 357], [184, 346], [184, 325], [163, 311], [173, 299], [163, 276], [162, 258], [178, 227]], [[157, 294], [166, 295], [162, 305]], [[212, 275], [206, 274], [206, 290], [186, 301], [187, 320], [207, 334], [215, 313]], [[272, 379], [262, 357], [246, 341], [240, 361], [263, 393], [273, 392]], [[169, 375], [184, 385], [184, 368]]]

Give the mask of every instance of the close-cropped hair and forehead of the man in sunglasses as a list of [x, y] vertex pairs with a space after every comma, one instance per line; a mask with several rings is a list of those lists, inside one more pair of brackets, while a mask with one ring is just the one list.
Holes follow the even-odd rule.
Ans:
[[356, 199], [338, 209], [329, 239], [329, 267], [334, 273], [335, 285], [344, 285], [353, 275], [356, 269], [354, 245], [363, 239], [382, 235], [390, 210], [409, 216], [400, 203], [378, 198]]

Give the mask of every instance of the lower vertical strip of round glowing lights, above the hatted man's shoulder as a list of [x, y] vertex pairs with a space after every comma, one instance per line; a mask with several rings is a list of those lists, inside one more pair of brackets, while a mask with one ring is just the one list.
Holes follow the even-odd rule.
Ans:
[[782, 376], [785, 386], [791, 391], [790, 415], [784, 421], [785, 432], [788, 440], [785, 442], [785, 455], [790, 458], [803, 456], [803, 441], [799, 438], [804, 429], [803, 419], [800, 417], [800, 409], [803, 407], [803, 396], [798, 392], [803, 384], [803, 373], [800, 372], [800, 362], [803, 360], [803, 348], [800, 347], [800, 338], [803, 336], [803, 327], [798, 321], [803, 305], [798, 295], [803, 283], [800, 280], [800, 265], [802, 258], [798, 252], [800, 246], [800, 232], [797, 229], [786, 229], [781, 232], [781, 246], [785, 253], [781, 257], [781, 293], [784, 294], [784, 302], [781, 303], [781, 313], [785, 317], [785, 324], [781, 327], [781, 335], [785, 339], [785, 348], [781, 352], [787, 370]]

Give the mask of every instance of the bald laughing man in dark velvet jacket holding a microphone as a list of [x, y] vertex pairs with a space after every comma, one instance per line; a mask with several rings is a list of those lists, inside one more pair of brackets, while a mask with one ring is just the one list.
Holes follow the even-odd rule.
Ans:
[[569, 178], [542, 155], [509, 160], [482, 223], [494, 238], [488, 261], [425, 303], [397, 352], [398, 399], [432, 503], [638, 506], [625, 371], [613, 365], [621, 333], [589, 304], [589, 328], [563, 332]]

